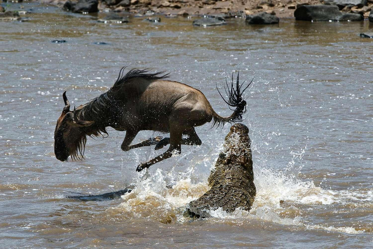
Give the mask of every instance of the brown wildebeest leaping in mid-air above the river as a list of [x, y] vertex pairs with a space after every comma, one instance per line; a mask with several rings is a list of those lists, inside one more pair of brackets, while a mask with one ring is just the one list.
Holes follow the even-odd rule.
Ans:
[[[218, 89], [225, 103], [230, 108], [235, 107], [231, 116], [221, 117], [200, 90], [167, 80], [169, 74], [165, 72], [150, 73], [148, 70], [132, 69], [123, 76], [124, 69], [119, 71], [113, 87], [85, 105], [74, 107], [74, 111], [70, 110], [66, 91], [63, 93], [65, 107], [54, 131], [54, 153], [58, 160], [65, 161], [69, 156], [72, 160], [82, 160], [86, 136], [103, 137], [103, 134], [107, 135], [106, 127], [111, 126], [116, 130], [126, 131], [121, 144], [124, 151], [153, 144], [156, 145], [155, 149], [160, 149], [170, 143], [166, 152], [138, 165], [136, 171], [141, 171], [170, 158], [174, 151], [181, 153], [181, 144], [202, 144], [195, 126], [211, 120], [213, 126], [239, 122], [246, 112], [246, 101], [242, 93], [251, 82], [243, 88], [243, 84], [238, 82], [239, 72], [236, 88], [233, 73], [230, 86], [225, 80], [224, 89], [228, 100], [224, 99]], [[170, 138], [155, 137], [131, 145], [141, 130], [170, 132]]]

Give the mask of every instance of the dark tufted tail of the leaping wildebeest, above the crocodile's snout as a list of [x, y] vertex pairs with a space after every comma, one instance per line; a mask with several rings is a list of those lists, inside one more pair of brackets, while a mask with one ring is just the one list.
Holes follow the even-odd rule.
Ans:
[[[253, 79], [254, 80], [254, 79]], [[243, 92], [250, 86], [251, 82], [245, 87], [245, 81], [240, 85], [239, 84], [239, 71], [237, 73], [237, 80], [236, 80], [236, 88], [233, 82], [233, 73], [231, 78], [231, 84], [229, 86], [227, 79], [225, 78], [225, 85], [224, 90], [226, 95], [228, 96], [228, 100], [226, 100], [223, 95], [220, 93], [218, 86], [218, 92], [221, 98], [224, 100], [225, 103], [228, 104], [229, 108], [233, 110], [233, 113], [229, 117], [221, 117], [218, 113], [216, 113], [212, 108], [212, 116], [213, 116], [213, 124], [212, 127], [215, 125], [224, 125], [225, 123], [232, 123], [232, 122], [241, 122], [243, 120], [242, 115], [247, 111], [246, 109], [246, 101], [243, 99]]]

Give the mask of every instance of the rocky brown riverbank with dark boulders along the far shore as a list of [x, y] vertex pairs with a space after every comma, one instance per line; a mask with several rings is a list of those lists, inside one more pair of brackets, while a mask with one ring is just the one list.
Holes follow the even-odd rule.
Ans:
[[[11, 0], [3, 0], [11, 1]], [[23, 0], [12, 0], [22, 2]], [[249, 24], [274, 24], [279, 18], [308, 21], [357, 21], [369, 18], [373, 22], [373, 0], [40, 0], [75, 13], [132, 13], [137, 16], [163, 14], [172, 16], [213, 15], [219, 18], [246, 18]], [[0, 18], [12, 16], [0, 6]], [[112, 16], [112, 15], [111, 15]], [[16, 18], [16, 17], [11, 17]], [[104, 22], [118, 22], [104, 19]], [[128, 22], [128, 20], [120, 20]], [[193, 23], [198, 26], [225, 24], [225, 19]]]

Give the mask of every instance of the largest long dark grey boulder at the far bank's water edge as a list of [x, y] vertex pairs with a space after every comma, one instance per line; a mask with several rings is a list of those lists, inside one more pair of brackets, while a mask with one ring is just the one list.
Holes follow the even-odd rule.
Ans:
[[294, 11], [296, 20], [304, 21], [357, 21], [364, 18], [359, 14], [343, 14], [336, 5], [303, 5]]

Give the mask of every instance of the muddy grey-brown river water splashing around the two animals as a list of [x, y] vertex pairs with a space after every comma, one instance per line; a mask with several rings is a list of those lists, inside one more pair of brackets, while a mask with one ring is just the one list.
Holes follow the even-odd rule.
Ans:
[[[373, 56], [364, 22], [281, 20], [212, 28], [188, 18], [97, 23], [55, 7], [0, 23], [0, 248], [368, 248], [373, 246]], [[10, 5], [16, 9], [19, 5]], [[66, 40], [52, 43], [52, 40]], [[104, 42], [105, 45], [97, 44]], [[201, 89], [231, 114], [215, 85], [240, 70], [257, 196], [250, 212], [190, 220], [184, 206], [207, 178], [230, 125], [197, 127], [201, 146], [145, 172], [152, 147], [120, 150], [125, 132], [88, 138], [85, 160], [54, 157], [55, 122], [108, 90], [119, 69], [152, 68]], [[142, 131], [135, 142], [162, 135]], [[162, 152], [165, 149], [162, 150]], [[122, 198], [68, 196], [135, 187]]]

